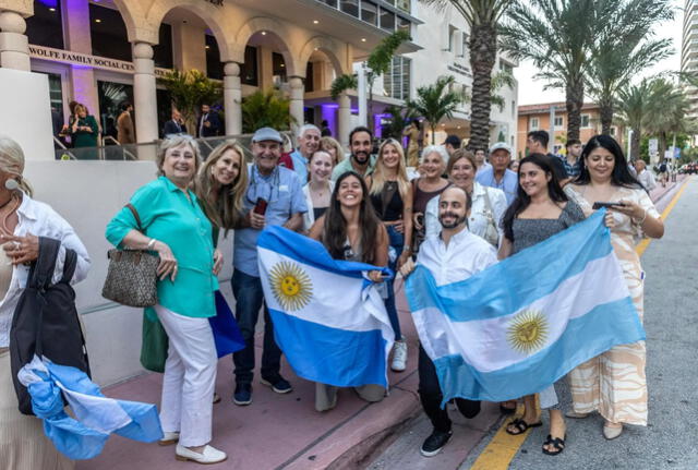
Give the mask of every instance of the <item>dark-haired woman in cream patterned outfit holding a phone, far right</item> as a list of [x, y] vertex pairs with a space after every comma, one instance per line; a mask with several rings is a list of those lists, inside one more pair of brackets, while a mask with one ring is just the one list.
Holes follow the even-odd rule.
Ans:
[[[614, 217], [611, 244], [621, 262], [623, 275], [640, 321], [643, 313], [643, 273], [635, 251], [635, 238], [643, 232], [661, 238], [664, 225], [642, 185], [630, 174], [623, 149], [607, 135], [592, 137], [580, 160], [579, 177], [565, 188], [586, 216], [594, 202], [619, 203], [609, 214]], [[605, 419], [603, 435], [615, 438], [623, 423], [647, 425], [647, 381], [645, 341], [621, 345], [579, 365], [569, 373], [574, 411], [571, 418], [586, 418], [599, 411]]]

